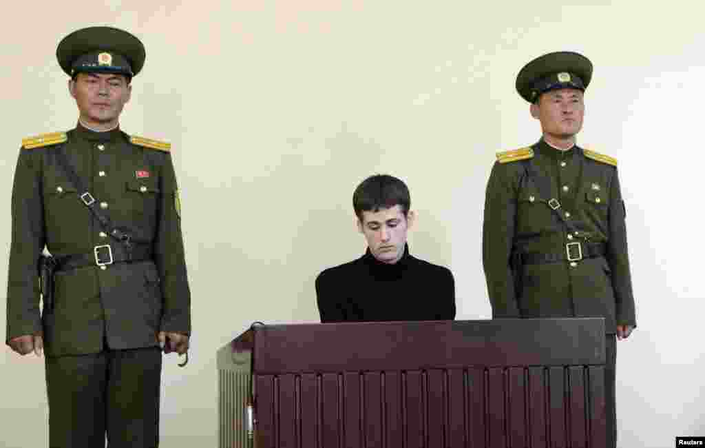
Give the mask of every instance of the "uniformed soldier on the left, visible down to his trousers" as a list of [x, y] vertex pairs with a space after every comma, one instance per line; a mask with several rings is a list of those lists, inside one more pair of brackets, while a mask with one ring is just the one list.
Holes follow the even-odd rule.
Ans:
[[78, 124], [20, 149], [6, 343], [46, 352], [51, 447], [157, 447], [160, 346], [186, 353], [191, 324], [170, 145], [118, 126], [145, 47], [94, 27], [56, 56]]

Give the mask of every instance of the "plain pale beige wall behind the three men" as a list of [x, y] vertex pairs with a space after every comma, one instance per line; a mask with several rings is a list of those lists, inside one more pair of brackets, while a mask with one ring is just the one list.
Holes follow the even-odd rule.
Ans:
[[[369, 174], [407, 181], [412, 253], [453, 270], [458, 318], [488, 317], [486, 179], [494, 152], [539, 138], [515, 75], [563, 49], [594, 62], [579, 140], [620, 160], [627, 200], [639, 329], [618, 345], [620, 446], [705, 435], [699, 2], [173, 3], [16, 2], [0, 30], [5, 253], [20, 139], [77, 117], [57, 42], [114, 25], [147, 47], [121, 126], [173, 143], [193, 296], [190, 364], [164, 368], [164, 447], [216, 446], [219, 346], [255, 320], [317, 321], [315, 276], [364, 250], [351, 197]], [[46, 446], [43, 361], [0, 362], [0, 446]]]

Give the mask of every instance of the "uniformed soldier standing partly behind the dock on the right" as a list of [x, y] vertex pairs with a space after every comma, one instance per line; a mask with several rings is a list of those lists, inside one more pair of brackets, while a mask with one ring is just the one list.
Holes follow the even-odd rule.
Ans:
[[572, 52], [529, 62], [517, 91], [543, 137], [500, 152], [487, 184], [483, 264], [493, 317], [605, 317], [607, 446], [614, 447], [615, 334], [636, 327], [617, 161], [575, 144], [592, 64]]

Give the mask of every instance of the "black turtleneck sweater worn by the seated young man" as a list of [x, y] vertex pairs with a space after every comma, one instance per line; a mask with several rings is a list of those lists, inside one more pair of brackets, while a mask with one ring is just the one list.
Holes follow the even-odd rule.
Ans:
[[453, 274], [412, 257], [408, 245], [393, 265], [368, 248], [357, 260], [324, 270], [316, 294], [324, 323], [455, 318]]

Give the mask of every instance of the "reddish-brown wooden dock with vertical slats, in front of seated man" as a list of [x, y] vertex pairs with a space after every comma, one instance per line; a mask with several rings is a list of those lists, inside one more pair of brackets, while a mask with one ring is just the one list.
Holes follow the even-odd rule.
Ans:
[[253, 325], [219, 446], [603, 448], [605, 362], [602, 318]]

